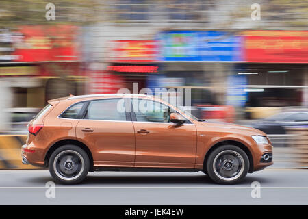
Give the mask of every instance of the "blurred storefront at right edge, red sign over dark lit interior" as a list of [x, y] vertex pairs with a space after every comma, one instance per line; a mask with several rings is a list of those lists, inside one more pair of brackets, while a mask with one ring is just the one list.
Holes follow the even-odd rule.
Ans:
[[308, 31], [245, 31], [244, 60], [238, 75], [247, 78], [247, 111], [263, 118], [281, 107], [307, 105]]

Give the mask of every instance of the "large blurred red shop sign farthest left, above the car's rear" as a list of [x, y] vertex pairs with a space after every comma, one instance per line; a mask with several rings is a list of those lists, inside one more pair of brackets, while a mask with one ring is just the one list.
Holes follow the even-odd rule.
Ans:
[[14, 42], [14, 55], [18, 56], [15, 61], [79, 60], [77, 31], [77, 27], [70, 25], [20, 27]]

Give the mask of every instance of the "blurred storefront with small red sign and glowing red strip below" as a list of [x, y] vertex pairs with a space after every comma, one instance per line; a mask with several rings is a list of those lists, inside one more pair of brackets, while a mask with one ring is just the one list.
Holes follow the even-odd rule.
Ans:
[[148, 87], [149, 75], [159, 73], [154, 40], [115, 40], [111, 48], [107, 64], [93, 65], [90, 93], [114, 93], [120, 88], [139, 93]]

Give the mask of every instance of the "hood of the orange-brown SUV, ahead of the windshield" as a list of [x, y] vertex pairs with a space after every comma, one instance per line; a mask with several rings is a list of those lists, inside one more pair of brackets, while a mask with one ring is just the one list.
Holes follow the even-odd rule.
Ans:
[[223, 123], [223, 122], [217, 122], [217, 121], [210, 121], [210, 122], [204, 121], [204, 122], [199, 122], [199, 123], [201, 123], [201, 125], [203, 125], [204, 127], [218, 128], [226, 132], [239, 131], [239, 132], [246, 132], [251, 135], [266, 136], [266, 133], [264, 133], [263, 131], [252, 128], [252, 127], [246, 127], [244, 125], [237, 125], [233, 123]]

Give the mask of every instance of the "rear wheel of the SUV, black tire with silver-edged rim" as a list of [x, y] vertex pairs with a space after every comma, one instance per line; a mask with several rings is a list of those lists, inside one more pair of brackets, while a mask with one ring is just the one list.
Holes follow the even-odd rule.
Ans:
[[53, 151], [49, 158], [51, 176], [62, 184], [77, 184], [83, 181], [90, 169], [87, 153], [73, 144], [66, 144]]

